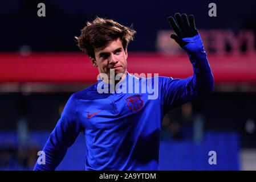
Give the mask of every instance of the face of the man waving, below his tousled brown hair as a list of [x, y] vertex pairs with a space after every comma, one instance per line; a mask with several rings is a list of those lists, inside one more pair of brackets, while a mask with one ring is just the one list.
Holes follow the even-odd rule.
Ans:
[[127, 75], [127, 50], [124, 51], [120, 39], [109, 42], [106, 46], [95, 49], [95, 59], [90, 57], [92, 64], [105, 73], [110, 79], [110, 69], [115, 69], [115, 75]]

